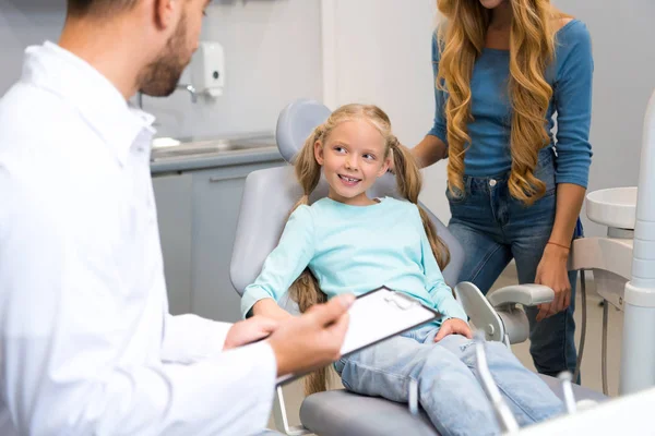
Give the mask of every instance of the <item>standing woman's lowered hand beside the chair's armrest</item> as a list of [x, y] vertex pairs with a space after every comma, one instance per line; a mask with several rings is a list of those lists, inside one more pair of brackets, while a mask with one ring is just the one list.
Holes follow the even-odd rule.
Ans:
[[535, 283], [544, 284], [555, 291], [552, 302], [539, 304], [537, 322], [558, 314], [571, 304], [571, 283], [569, 281], [569, 250], [547, 244], [537, 267]]

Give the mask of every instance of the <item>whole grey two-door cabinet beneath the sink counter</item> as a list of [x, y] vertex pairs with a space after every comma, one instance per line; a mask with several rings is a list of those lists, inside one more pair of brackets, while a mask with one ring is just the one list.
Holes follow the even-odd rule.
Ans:
[[153, 178], [170, 312], [237, 322], [229, 268], [246, 177], [279, 161]]

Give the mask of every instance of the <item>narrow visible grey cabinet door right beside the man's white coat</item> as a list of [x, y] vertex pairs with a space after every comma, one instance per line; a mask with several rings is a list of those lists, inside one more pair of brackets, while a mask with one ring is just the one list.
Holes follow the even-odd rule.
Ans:
[[172, 315], [191, 312], [190, 173], [153, 178], [168, 305]]

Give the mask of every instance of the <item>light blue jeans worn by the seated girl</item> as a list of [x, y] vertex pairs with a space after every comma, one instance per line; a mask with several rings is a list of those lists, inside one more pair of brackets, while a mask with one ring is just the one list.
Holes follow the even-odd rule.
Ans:
[[[460, 335], [434, 343], [428, 325], [350, 354], [335, 363], [354, 392], [407, 402], [418, 383], [420, 405], [442, 436], [500, 433], [491, 403], [476, 378], [475, 347]], [[485, 344], [489, 371], [520, 425], [563, 412], [562, 402], [500, 342]]]

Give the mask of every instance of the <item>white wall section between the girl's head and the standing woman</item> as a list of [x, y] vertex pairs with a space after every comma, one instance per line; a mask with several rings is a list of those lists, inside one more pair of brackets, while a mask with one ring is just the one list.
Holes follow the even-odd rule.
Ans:
[[[431, 35], [434, 0], [323, 0], [323, 51], [330, 57], [324, 76], [325, 102], [380, 106], [407, 146], [416, 145], [432, 126], [434, 94]], [[440, 219], [450, 211], [445, 162], [425, 171], [421, 199]]]

